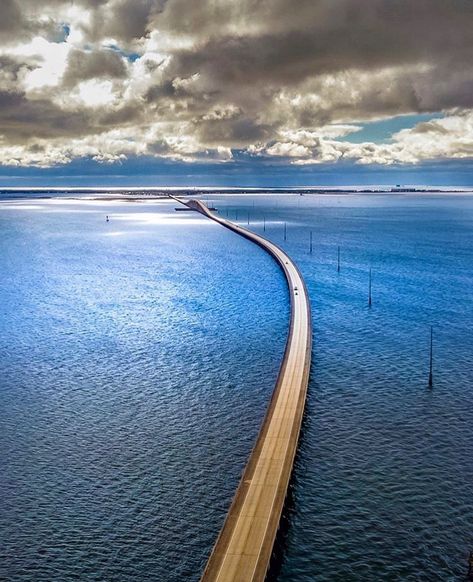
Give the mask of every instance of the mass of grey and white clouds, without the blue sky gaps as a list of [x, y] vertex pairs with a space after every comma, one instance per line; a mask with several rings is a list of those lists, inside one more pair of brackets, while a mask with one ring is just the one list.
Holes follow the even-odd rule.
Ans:
[[[332, 143], [326, 126], [443, 111], [457, 125], [419, 125], [419, 155], [468, 152], [472, 28], [472, 0], [3, 0], [0, 139], [59, 151], [103, 136], [104, 158], [136, 140], [186, 159], [248, 148], [410, 162], [408, 136], [403, 158], [400, 145]], [[23, 45], [38, 36], [49, 44], [36, 38], [35, 54]], [[439, 133], [455, 140], [429, 149]]]

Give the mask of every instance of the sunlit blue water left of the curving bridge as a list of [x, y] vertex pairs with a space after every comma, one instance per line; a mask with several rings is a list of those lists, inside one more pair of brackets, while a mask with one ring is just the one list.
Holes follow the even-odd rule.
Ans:
[[276, 379], [282, 275], [169, 203], [5, 203], [0, 233], [0, 579], [198, 580]]

